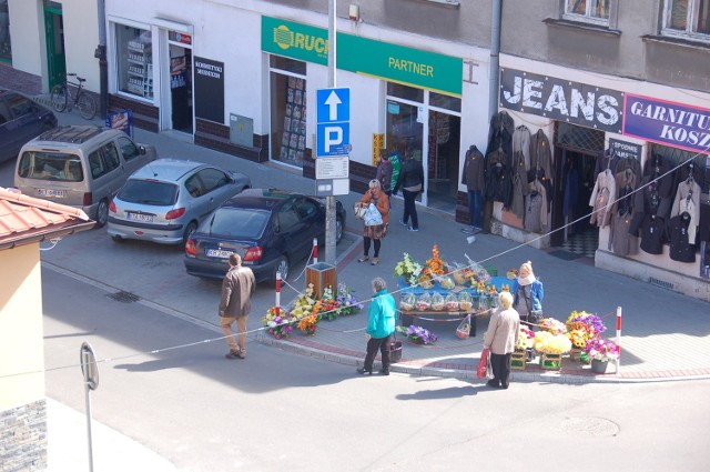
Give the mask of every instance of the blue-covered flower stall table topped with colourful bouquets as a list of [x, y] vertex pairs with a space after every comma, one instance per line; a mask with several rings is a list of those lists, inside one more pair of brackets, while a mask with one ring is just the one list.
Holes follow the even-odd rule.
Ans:
[[[491, 277], [486, 269], [469, 262], [468, 265], [446, 262], [437, 244], [424, 264], [405, 253], [394, 270], [399, 288], [400, 324], [414, 325], [415, 320], [466, 320], [462, 324], [470, 321], [469, 334], [475, 337], [477, 317], [497, 307], [498, 293], [508, 290], [510, 280]], [[453, 327], [452, 331], [455, 330]]]

